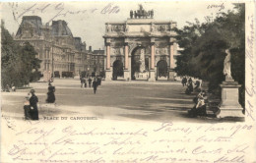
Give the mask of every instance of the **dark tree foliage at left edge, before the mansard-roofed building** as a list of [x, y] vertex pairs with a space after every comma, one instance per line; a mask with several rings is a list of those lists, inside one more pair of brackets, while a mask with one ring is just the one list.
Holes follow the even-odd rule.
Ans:
[[23, 86], [38, 80], [40, 61], [33, 46], [26, 42], [17, 44], [9, 31], [1, 24], [1, 85]]

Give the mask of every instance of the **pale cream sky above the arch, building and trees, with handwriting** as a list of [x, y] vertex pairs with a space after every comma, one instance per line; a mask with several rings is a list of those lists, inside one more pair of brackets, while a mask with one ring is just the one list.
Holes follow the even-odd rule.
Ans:
[[39, 16], [42, 24], [64, 20], [73, 36], [79, 36], [93, 50], [104, 47], [102, 36], [105, 23], [124, 22], [130, 17], [130, 10], [138, 10], [142, 4], [145, 10], [154, 10], [155, 21], [174, 21], [177, 27], [197, 18], [205, 21], [206, 16], [233, 10], [230, 2], [208, 1], [87, 1], [87, 2], [5, 2], [1, 4], [1, 19], [10, 33], [17, 32], [23, 16]]

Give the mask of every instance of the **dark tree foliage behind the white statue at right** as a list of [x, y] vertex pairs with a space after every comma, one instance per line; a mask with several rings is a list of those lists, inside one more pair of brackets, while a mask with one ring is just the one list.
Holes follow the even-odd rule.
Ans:
[[180, 76], [191, 76], [210, 81], [210, 90], [220, 90], [224, 81], [225, 50], [231, 53], [231, 75], [242, 84], [240, 103], [244, 106], [245, 80], [245, 5], [234, 4], [234, 10], [219, 13], [205, 23], [189, 23], [176, 29], [176, 37], [184, 50], [177, 57], [175, 71]]

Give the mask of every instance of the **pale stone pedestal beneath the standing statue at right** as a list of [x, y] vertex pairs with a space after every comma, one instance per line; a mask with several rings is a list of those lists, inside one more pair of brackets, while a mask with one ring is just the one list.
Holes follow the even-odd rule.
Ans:
[[238, 102], [239, 85], [236, 81], [226, 80], [221, 84], [222, 87], [222, 104], [218, 118], [224, 117], [244, 117], [242, 114], [243, 108]]

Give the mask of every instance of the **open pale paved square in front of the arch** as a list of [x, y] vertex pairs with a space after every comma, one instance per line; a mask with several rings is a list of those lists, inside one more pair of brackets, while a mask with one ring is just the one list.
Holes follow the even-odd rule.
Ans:
[[[81, 88], [79, 80], [56, 79], [56, 104], [45, 102], [47, 83], [33, 82], [39, 98], [39, 118], [45, 116], [95, 116], [128, 121], [201, 121], [187, 117], [195, 94], [186, 95], [180, 81], [102, 81], [97, 87]], [[2, 92], [4, 116], [23, 119], [23, 102], [30, 89]]]

